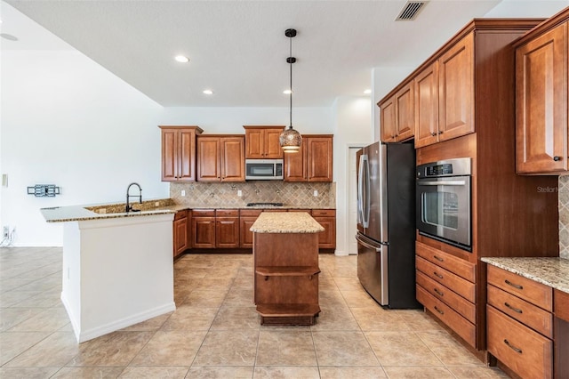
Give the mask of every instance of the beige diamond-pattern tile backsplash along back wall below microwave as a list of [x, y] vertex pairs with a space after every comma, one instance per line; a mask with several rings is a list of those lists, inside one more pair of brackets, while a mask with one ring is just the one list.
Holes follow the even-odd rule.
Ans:
[[[181, 191], [186, 196], [181, 196]], [[238, 196], [238, 191], [242, 196]], [[317, 196], [314, 196], [317, 191]], [[301, 208], [335, 208], [336, 183], [246, 181], [236, 183], [171, 182], [170, 198], [191, 207], [242, 207], [247, 203], [283, 203]]]

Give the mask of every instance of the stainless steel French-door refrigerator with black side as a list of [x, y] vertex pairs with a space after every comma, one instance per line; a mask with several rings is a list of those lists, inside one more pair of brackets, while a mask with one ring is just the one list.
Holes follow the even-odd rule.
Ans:
[[357, 278], [388, 308], [415, 299], [415, 149], [376, 142], [357, 152]]

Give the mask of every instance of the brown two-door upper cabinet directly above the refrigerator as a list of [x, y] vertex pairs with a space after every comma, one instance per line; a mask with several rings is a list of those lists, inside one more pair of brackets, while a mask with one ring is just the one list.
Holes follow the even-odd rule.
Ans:
[[397, 91], [381, 107], [381, 141], [397, 142], [413, 138], [413, 82]]

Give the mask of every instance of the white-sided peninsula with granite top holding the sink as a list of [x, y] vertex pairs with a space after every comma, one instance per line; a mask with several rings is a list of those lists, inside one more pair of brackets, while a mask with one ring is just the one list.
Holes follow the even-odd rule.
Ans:
[[78, 343], [176, 309], [174, 210], [59, 206], [41, 212], [47, 222], [64, 222], [61, 301]]

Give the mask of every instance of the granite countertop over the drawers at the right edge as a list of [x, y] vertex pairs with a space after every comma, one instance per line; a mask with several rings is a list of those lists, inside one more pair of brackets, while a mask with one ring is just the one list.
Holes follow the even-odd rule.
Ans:
[[558, 257], [481, 258], [503, 270], [569, 294], [569, 259]]

